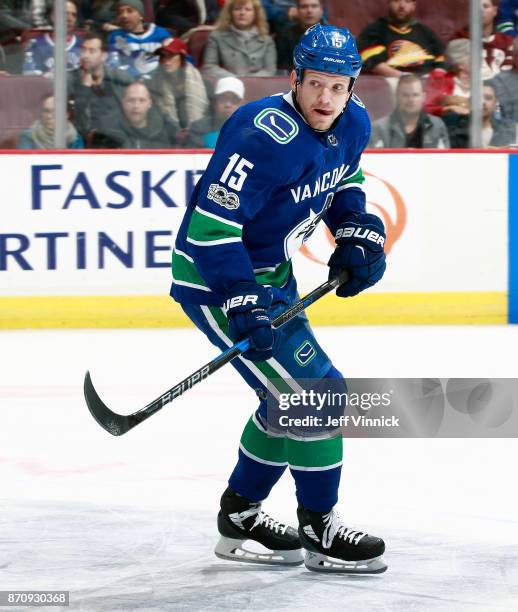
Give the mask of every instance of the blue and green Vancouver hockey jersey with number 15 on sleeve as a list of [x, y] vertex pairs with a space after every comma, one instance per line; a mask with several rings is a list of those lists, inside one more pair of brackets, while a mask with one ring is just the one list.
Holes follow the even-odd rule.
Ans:
[[232, 285], [282, 287], [291, 258], [320, 220], [334, 229], [365, 211], [360, 157], [370, 121], [353, 95], [327, 132], [299, 114], [292, 93], [239, 108], [223, 126], [173, 250], [171, 295], [222, 305]]

